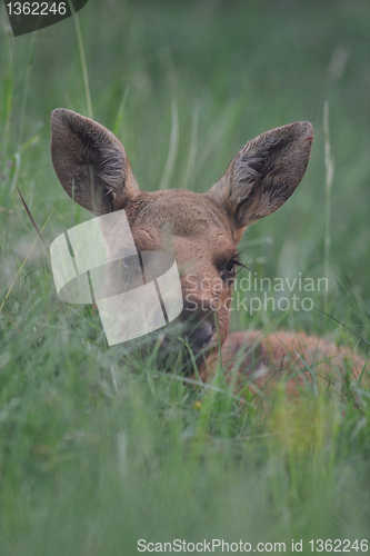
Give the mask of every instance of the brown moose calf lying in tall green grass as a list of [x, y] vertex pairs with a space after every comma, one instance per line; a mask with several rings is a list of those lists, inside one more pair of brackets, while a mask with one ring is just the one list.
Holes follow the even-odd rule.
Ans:
[[[302, 369], [288, 385], [294, 390], [302, 376], [312, 380], [312, 369], [328, 357], [332, 368], [341, 368], [348, 350], [318, 338], [284, 331], [228, 338], [238, 244], [246, 228], [277, 210], [302, 179], [313, 137], [310, 123], [291, 123], [249, 141], [207, 193], [141, 191], [122, 145], [104, 127], [61, 108], [53, 111], [51, 127], [52, 161], [67, 193], [97, 216], [124, 209], [139, 252], [166, 250], [174, 256], [184, 306], [177, 324], [166, 329], [163, 348], [184, 337], [203, 379], [220, 346], [227, 367], [242, 348], [240, 374], [254, 377], [258, 387]], [[109, 241], [119, 245], [119, 227]], [[354, 356], [351, 361], [358, 377], [363, 361]], [[318, 376], [330, 383], [329, 371], [327, 360]]]

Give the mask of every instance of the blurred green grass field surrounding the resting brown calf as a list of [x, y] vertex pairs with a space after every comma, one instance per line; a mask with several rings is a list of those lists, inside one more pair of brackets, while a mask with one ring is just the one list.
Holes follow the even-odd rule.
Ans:
[[148, 190], [206, 191], [248, 139], [309, 120], [302, 183], [241, 250], [253, 276], [327, 277], [310, 297], [329, 316], [234, 310], [232, 328], [304, 330], [368, 357], [369, 2], [91, 0], [78, 22], [18, 38], [3, 6], [0, 20], [0, 556], [212, 538], [366, 552], [369, 389], [308, 389], [299, 405], [281, 389], [266, 411], [222, 370], [197, 385], [122, 359], [91, 307], [58, 299], [17, 187], [47, 245], [90, 218], [51, 165], [57, 107], [113, 130]]

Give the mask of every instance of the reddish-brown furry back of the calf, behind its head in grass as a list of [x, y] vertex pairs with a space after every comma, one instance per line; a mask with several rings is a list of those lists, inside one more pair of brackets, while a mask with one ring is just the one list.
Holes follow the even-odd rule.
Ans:
[[247, 384], [251, 391], [264, 394], [271, 394], [276, 383], [284, 379], [290, 397], [307, 385], [311, 391], [334, 388], [344, 395], [349, 381], [361, 380], [363, 385], [367, 377], [362, 357], [346, 346], [303, 332], [279, 330], [266, 337], [258, 330], [233, 332], [222, 354], [223, 365], [238, 373], [239, 387]]

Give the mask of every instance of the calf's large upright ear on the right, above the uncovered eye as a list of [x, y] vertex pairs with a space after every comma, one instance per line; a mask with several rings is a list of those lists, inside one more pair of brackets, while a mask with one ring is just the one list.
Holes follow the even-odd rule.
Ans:
[[209, 191], [236, 229], [277, 210], [302, 179], [311, 152], [311, 123], [297, 121], [249, 141]]

